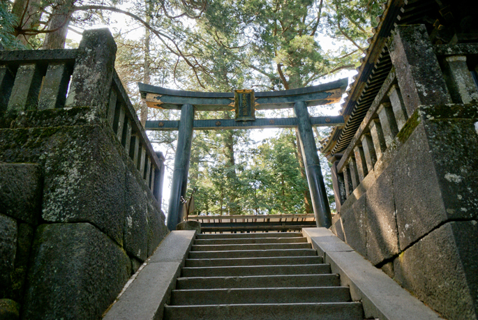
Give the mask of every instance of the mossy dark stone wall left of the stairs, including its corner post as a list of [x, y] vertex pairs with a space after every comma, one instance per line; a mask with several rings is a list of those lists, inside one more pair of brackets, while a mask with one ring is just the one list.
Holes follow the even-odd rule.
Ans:
[[[50, 103], [61, 91], [57, 84], [49, 97], [42, 100], [42, 91], [38, 100], [17, 99], [13, 108], [13, 86], [10, 102], [0, 107], [0, 316], [5, 319], [100, 318], [167, 234], [158, 203], [158, 158], [137, 119], [125, 116], [130, 102], [124, 95], [120, 99], [114, 69], [107, 79], [96, 77], [101, 86], [91, 82], [94, 74], [88, 79], [94, 68], [75, 76], [82, 63], [114, 65], [109, 31], [85, 33], [70, 102], [63, 97]], [[100, 39], [91, 50], [88, 38]], [[82, 47], [95, 52], [105, 45], [106, 58], [80, 59]], [[94, 61], [103, 58], [110, 62]], [[5, 82], [0, 89], [5, 92]], [[50, 107], [41, 107], [42, 101]]]

